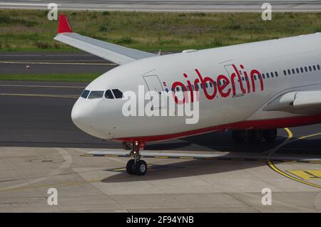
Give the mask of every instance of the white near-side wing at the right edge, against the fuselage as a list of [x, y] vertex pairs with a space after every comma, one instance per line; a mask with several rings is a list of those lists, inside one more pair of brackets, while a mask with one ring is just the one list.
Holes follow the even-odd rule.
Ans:
[[300, 90], [285, 93], [272, 100], [263, 110], [297, 114], [321, 113], [321, 90]]

